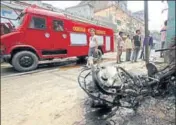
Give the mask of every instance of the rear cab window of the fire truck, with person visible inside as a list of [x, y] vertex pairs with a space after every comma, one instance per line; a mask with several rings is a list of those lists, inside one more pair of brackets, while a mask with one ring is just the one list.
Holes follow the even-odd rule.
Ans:
[[56, 32], [64, 31], [64, 23], [61, 20], [53, 20], [53, 30]]

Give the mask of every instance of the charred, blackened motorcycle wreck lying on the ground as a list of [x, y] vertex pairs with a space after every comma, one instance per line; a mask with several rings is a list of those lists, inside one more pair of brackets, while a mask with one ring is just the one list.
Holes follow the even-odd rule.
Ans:
[[[160, 51], [164, 51], [164, 49]], [[149, 63], [146, 65], [148, 75], [131, 75], [122, 67], [116, 67], [117, 75], [122, 81], [122, 84], [118, 86], [108, 86], [106, 84], [107, 79], [103, 79], [102, 82], [102, 78], [98, 77], [98, 73], [104, 68], [106, 67], [93, 66], [89, 69], [83, 69], [78, 76], [80, 87], [90, 98], [101, 104], [95, 106], [95, 108], [125, 107], [136, 110], [141, 101], [147, 96], [156, 98], [165, 96], [168, 93], [175, 95], [175, 63], [170, 63], [160, 71], [157, 70], [154, 64]], [[84, 74], [84, 72], [87, 73]], [[88, 76], [92, 76], [89, 84], [86, 83]], [[93, 89], [90, 90], [87, 87], [88, 85], [92, 85]], [[128, 104], [125, 105], [125, 103]]]

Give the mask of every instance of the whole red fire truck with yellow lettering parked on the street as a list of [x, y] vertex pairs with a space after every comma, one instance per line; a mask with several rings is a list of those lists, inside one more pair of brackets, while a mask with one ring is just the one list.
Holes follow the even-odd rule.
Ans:
[[16, 30], [1, 36], [1, 54], [17, 71], [34, 70], [41, 60], [86, 57], [90, 28], [96, 30], [102, 53], [114, 51], [112, 29], [31, 6], [18, 17]]

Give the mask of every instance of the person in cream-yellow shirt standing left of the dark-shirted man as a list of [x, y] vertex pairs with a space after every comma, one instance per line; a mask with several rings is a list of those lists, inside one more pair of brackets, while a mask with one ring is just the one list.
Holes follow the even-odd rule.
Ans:
[[130, 61], [131, 51], [132, 51], [132, 42], [131, 42], [129, 35], [127, 35], [127, 38], [125, 40], [125, 48], [126, 48], [126, 61]]

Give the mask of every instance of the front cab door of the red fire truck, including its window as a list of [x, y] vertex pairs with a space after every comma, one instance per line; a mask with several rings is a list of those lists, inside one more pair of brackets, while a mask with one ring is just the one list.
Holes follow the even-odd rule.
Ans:
[[[30, 21], [25, 32], [25, 41], [37, 50], [52, 50], [51, 34], [48, 30], [48, 20], [45, 16], [30, 16]], [[44, 54], [43, 54], [44, 55]]]

